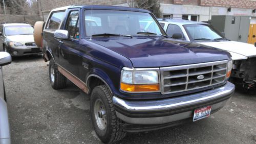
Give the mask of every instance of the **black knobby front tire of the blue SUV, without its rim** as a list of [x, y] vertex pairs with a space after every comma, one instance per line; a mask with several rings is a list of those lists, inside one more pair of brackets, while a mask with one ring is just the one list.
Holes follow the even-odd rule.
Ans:
[[[121, 140], [126, 135], [126, 132], [124, 132], [121, 127], [121, 120], [116, 116], [116, 112], [112, 101], [112, 95], [113, 94], [110, 92], [109, 88], [106, 85], [96, 86], [91, 94], [91, 119], [96, 134], [104, 143], [116, 142], [118, 140]], [[104, 130], [101, 130], [98, 127], [94, 114], [94, 104], [98, 99], [101, 100], [106, 110], [107, 124]]]

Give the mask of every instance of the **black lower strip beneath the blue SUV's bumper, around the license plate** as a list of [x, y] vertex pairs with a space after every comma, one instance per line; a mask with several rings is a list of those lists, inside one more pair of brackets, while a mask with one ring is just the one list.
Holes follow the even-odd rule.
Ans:
[[[213, 113], [219, 111], [221, 108], [216, 109], [214, 111], [211, 111], [210, 114], [213, 114]], [[134, 125], [134, 124], [124, 123], [122, 125], [122, 128], [126, 132], [144, 132], [144, 131], [153, 131], [153, 130], [169, 128], [169, 127], [182, 125], [182, 124], [185, 124], [185, 123], [192, 123], [192, 122], [193, 122], [193, 117], [191, 116], [189, 118], [186, 118], [186, 119], [183, 119], [183, 120], [180, 120], [180, 121], [175, 121], [175, 122], [160, 124], [160, 125]]]

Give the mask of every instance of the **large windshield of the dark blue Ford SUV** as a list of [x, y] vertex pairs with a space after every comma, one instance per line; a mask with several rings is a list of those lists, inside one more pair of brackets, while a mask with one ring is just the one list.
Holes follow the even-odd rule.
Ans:
[[[141, 36], [166, 35], [159, 28], [150, 13], [117, 11], [117, 10], [86, 10], [86, 36]], [[111, 34], [111, 35], [110, 35]]]

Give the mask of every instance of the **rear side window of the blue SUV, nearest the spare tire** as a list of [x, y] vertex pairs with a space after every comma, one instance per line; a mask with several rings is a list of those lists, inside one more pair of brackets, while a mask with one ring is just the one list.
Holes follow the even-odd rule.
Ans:
[[63, 19], [64, 14], [64, 11], [53, 12], [50, 19], [48, 20], [46, 29], [57, 30], [59, 28], [61, 20]]

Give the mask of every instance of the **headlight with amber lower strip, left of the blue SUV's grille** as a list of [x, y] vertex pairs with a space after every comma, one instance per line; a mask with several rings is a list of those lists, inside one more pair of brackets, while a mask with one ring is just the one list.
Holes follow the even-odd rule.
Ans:
[[126, 92], [156, 92], [160, 90], [159, 68], [122, 69], [120, 88]]

